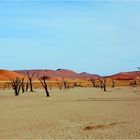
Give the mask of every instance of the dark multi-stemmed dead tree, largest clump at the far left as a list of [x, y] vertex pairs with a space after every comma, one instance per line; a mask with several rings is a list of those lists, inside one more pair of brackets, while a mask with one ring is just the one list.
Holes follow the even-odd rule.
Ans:
[[19, 77], [16, 79], [10, 78], [10, 84], [14, 90], [15, 96], [18, 96], [22, 85], [22, 80]]

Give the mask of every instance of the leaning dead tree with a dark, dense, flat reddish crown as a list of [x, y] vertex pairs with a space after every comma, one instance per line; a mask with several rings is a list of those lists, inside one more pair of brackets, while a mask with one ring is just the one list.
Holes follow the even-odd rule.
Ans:
[[42, 85], [42, 87], [45, 89], [45, 92], [46, 92], [46, 97], [50, 97], [50, 94], [49, 94], [49, 91], [48, 91], [48, 85], [47, 85], [47, 79], [49, 77], [47, 75], [44, 75], [43, 77], [39, 78], [39, 81]]

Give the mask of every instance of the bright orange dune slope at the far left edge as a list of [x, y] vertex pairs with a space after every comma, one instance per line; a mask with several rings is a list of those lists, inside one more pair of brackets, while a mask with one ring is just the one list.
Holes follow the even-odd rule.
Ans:
[[11, 79], [16, 79], [17, 77], [23, 77], [22, 75], [20, 75], [19, 73], [16, 73], [14, 71], [10, 71], [10, 70], [0, 70], [0, 81], [7, 81], [10, 78]]

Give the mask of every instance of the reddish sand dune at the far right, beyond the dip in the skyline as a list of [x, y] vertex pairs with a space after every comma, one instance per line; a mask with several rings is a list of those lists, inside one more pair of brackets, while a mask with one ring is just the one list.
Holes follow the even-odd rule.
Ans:
[[140, 71], [120, 72], [111, 76], [107, 76], [107, 78], [114, 80], [132, 80], [136, 78], [140, 79]]

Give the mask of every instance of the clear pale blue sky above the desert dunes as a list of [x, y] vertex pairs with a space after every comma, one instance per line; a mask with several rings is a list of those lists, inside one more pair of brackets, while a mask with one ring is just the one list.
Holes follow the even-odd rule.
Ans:
[[140, 66], [140, 1], [0, 0], [0, 69], [114, 74]]

